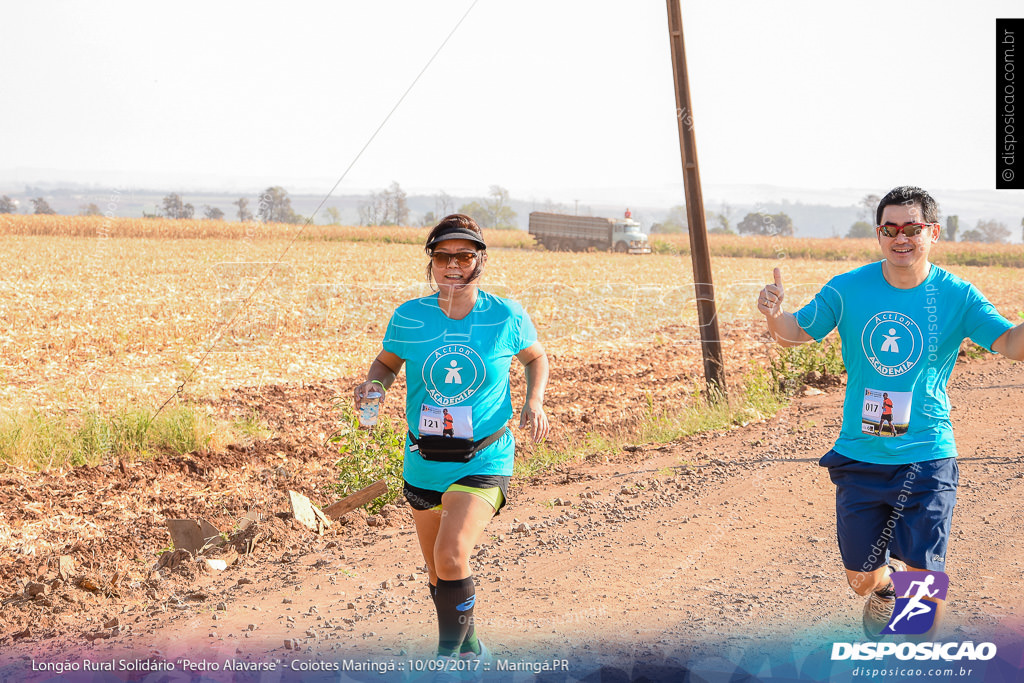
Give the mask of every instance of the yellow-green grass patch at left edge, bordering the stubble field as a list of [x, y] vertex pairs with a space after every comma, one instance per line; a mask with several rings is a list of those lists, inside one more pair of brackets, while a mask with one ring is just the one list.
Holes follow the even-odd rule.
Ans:
[[11, 412], [0, 417], [0, 470], [94, 466], [111, 459], [219, 447], [232, 440], [230, 426], [189, 404], [169, 407], [156, 419], [153, 411], [138, 408], [109, 415]]

